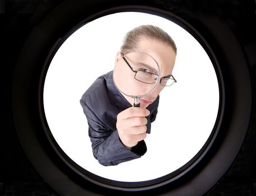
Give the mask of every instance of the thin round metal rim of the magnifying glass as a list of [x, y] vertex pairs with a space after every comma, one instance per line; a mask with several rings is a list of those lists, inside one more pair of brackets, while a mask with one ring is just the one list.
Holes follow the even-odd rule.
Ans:
[[[124, 57], [125, 55], [127, 55], [127, 54], [136, 53], [136, 52], [137, 52], [137, 53], [144, 53], [144, 54], [150, 56], [150, 57], [155, 61], [156, 65], [157, 65], [157, 69], [158, 69], [158, 71], [159, 71], [159, 77], [157, 78], [157, 81], [156, 81], [156, 83], [155, 83], [155, 86], [152, 88], [152, 90], [150, 90], [149, 92], [147, 92], [146, 94], [143, 94], [143, 95], [128, 95], [128, 94], [125, 94], [125, 92], [123, 92], [122, 90], [120, 90], [120, 88], [118, 87], [117, 83], [115, 82], [115, 79], [114, 79], [114, 78], [115, 78], [115, 69], [114, 69], [114, 71], [113, 71], [113, 81], [114, 81], [115, 87], [117, 87], [117, 89], [118, 89], [123, 95], [129, 96], [129, 97], [132, 97], [132, 98], [141, 98], [141, 97], [144, 97], [144, 96], [147, 96], [147, 95], [151, 94], [151, 92], [153, 92], [153, 91], [156, 89], [157, 84], [158, 84], [159, 81], [160, 81], [160, 73], [161, 73], [161, 70], [160, 70], [159, 64], [157, 63], [156, 59], [153, 58], [152, 55], [150, 55], [150, 54], [148, 54], [148, 53], [146, 53], [146, 52], [133, 50], [132, 52], [128, 52], [128, 53], [123, 54], [123, 55], [121, 56], [121, 58], [123, 58], [123, 57]], [[118, 63], [118, 62], [117, 62], [117, 63]], [[117, 63], [115, 63], [115, 67], [117, 66]]]

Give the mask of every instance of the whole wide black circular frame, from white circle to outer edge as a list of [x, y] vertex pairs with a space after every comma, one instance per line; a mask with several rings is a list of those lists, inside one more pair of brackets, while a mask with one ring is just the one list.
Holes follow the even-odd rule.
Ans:
[[[114, 1], [98, 6], [97, 2], [78, 1], [71, 7], [71, 2], [64, 1], [31, 31], [13, 78], [13, 120], [22, 147], [46, 183], [61, 195], [138, 195], [142, 192], [146, 195], [202, 195], [232, 164], [248, 129], [252, 89], [239, 43], [217, 17], [190, 18], [188, 22], [151, 4], [134, 6], [110, 2]], [[72, 161], [52, 136], [43, 106], [46, 72], [64, 41], [87, 22], [125, 11], [167, 18], [192, 34], [211, 59], [220, 90], [215, 126], [197, 155], [161, 178], [132, 183], [102, 178]], [[229, 45], [225, 44], [227, 41]]]

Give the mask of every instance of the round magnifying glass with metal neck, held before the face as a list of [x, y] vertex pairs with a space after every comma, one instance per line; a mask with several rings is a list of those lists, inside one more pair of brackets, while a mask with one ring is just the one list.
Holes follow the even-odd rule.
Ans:
[[134, 107], [139, 107], [139, 99], [155, 90], [160, 68], [156, 60], [145, 52], [122, 54], [117, 60], [113, 80], [118, 90], [134, 98]]

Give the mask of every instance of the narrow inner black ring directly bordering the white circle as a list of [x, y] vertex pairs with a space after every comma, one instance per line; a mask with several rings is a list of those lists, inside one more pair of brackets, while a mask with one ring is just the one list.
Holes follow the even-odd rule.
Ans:
[[[122, 11], [137, 11], [137, 12], [143, 12], [143, 11], [150, 11], [152, 14], [160, 15], [162, 17], [165, 17], [176, 24], [183, 27], [185, 30], [190, 32], [196, 38], [199, 43], [203, 46], [203, 48], [206, 50], [207, 54], [209, 55], [210, 59], [212, 60], [213, 66], [215, 67], [217, 78], [218, 78], [218, 84], [220, 88], [220, 106], [219, 111], [216, 119], [215, 126], [213, 127], [213, 131], [210, 135], [210, 137], [207, 139], [206, 143], [202, 147], [202, 149], [195, 155], [192, 160], [190, 160], [187, 164], [184, 166], [181, 166], [178, 170], [171, 172], [170, 174], [167, 174], [165, 176], [162, 176], [161, 178], [148, 180], [148, 181], [139, 181], [139, 182], [123, 182], [123, 181], [114, 181], [109, 180], [106, 178], [102, 178], [101, 176], [97, 176], [95, 174], [92, 174], [91, 172], [87, 171], [86, 169], [83, 169], [82, 167], [78, 166], [75, 162], [69, 158], [65, 152], [62, 151], [62, 149], [58, 146], [58, 143], [55, 141], [54, 137], [52, 136], [52, 133], [50, 132], [50, 128], [48, 127], [45, 114], [44, 114], [44, 105], [43, 105], [43, 86], [44, 86], [44, 79], [48, 70], [48, 67], [50, 66], [50, 62], [52, 61], [52, 58], [54, 57], [55, 53], [58, 51], [60, 46], [66, 41], [69, 36], [73, 34], [77, 29], [79, 29], [81, 26], [86, 25], [87, 22], [95, 20], [98, 16], [104, 16], [109, 15], [111, 13], [116, 12], [122, 12]], [[86, 18], [85, 21], [82, 21], [80, 24], [78, 24], [76, 27], [74, 27], [71, 31], [67, 33], [62, 39], [58, 41], [58, 44], [53, 46], [52, 52], [49, 53], [48, 58], [46, 59], [45, 66], [42, 69], [41, 72], [41, 79], [39, 83], [39, 111], [40, 116], [42, 120], [42, 124], [44, 126], [44, 130], [46, 133], [46, 136], [48, 137], [50, 143], [52, 144], [52, 147], [54, 148], [55, 152], [59, 155], [60, 158], [66, 164], [71, 167], [75, 172], [77, 172], [79, 175], [81, 175], [83, 178], [92, 181], [93, 183], [96, 183], [101, 186], [106, 186], [107, 188], [112, 189], [120, 189], [120, 190], [146, 190], [146, 189], [152, 189], [156, 188], [165, 184], [169, 184], [170, 182], [180, 178], [181, 176], [185, 175], [189, 170], [191, 170], [202, 158], [203, 156], [208, 152], [208, 150], [211, 147], [212, 142], [214, 141], [214, 138], [217, 136], [217, 133], [220, 129], [219, 122], [222, 121], [223, 116], [223, 110], [224, 108], [224, 100], [225, 100], [225, 91], [224, 91], [224, 82], [220, 70], [220, 66], [217, 62], [217, 59], [215, 57], [215, 54], [212, 52], [210, 45], [206, 42], [206, 40], [203, 39], [203, 37], [199, 34], [199, 32], [194, 29], [192, 26], [187, 24], [184, 20], [179, 18], [178, 16], [172, 15], [172, 14], [166, 14], [160, 10], [156, 10], [150, 7], [143, 7], [143, 8], [126, 8], [126, 7], [117, 7], [113, 9], [106, 10], [104, 12], [96, 13], [96, 15]]]

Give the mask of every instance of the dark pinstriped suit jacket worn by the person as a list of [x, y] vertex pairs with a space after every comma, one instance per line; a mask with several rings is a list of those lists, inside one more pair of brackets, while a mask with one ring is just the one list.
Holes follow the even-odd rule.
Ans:
[[[80, 103], [89, 125], [89, 137], [94, 157], [101, 165], [118, 165], [144, 155], [147, 151], [145, 141], [140, 141], [132, 150], [120, 141], [116, 128], [117, 115], [132, 105], [123, 97], [114, 85], [113, 71], [104, 74], [83, 94]], [[147, 133], [156, 119], [159, 97], [147, 109]]]

